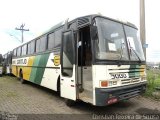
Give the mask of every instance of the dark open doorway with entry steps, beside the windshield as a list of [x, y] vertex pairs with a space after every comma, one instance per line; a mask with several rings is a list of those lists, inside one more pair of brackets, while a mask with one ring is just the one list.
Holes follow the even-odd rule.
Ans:
[[92, 103], [92, 53], [89, 26], [79, 30], [78, 43], [78, 84], [80, 90], [79, 98], [83, 101]]

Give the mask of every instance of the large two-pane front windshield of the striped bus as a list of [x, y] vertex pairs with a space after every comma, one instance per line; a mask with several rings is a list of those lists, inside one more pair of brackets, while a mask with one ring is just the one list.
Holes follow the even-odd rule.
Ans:
[[123, 27], [121, 23], [100, 17], [95, 20], [98, 28], [98, 40], [95, 44], [96, 59], [129, 61], [130, 58], [132, 61], [144, 61], [136, 29], [128, 26]]

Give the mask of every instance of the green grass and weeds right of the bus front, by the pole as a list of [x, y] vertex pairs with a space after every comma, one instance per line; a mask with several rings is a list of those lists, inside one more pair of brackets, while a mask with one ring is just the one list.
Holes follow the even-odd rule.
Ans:
[[144, 96], [157, 99], [153, 92], [156, 91], [155, 87], [160, 87], [160, 70], [147, 70], [147, 81], [147, 90]]

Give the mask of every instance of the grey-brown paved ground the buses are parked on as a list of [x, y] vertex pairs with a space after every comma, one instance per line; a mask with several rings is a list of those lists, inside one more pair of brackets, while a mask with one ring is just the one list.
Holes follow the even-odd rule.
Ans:
[[51, 116], [55, 119], [66, 120], [69, 117], [84, 120], [132, 119], [133, 115], [134, 119], [160, 119], [160, 101], [142, 96], [105, 107], [95, 107], [84, 102], [68, 107], [64, 101], [52, 90], [30, 82], [21, 84], [15, 77], [0, 77], [0, 117], [2, 114], [10, 114], [26, 115], [25, 118], [35, 115], [41, 116], [39, 119], [49, 119], [46, 116]]

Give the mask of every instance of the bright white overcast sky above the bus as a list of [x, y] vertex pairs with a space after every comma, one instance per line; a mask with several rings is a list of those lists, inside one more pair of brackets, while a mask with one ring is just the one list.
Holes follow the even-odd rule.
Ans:
[[[160, 62], [159, 5], [159, 0], [145, 0], [147, 61]], [[21, 45], [21, 32], [15, 30], [21, 24], [29, 29], [24, 32], [27, 42], [67, 18], [98, 13], [139, 28], [139, 0], [1, 0], [0, 53]]]

